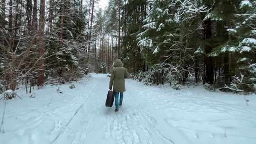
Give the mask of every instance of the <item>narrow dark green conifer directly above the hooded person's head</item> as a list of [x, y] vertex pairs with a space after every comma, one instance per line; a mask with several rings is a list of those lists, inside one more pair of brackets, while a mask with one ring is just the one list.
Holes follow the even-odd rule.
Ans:
[[[124, 34], [122, 38], [122, 59], [124, 64], [133, 71], [143, 67], [141, 48], [137, 45], [137, 33], [143, 26], [146, 17], [146, 0], [127, 0], [124, 2], [122, 13], [122, 25]], [[134, 61], [129, 61], [134, 60]]]

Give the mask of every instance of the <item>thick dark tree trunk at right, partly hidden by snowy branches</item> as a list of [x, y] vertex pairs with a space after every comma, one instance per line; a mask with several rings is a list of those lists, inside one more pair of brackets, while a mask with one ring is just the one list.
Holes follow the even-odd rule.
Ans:
[[[203, 32], [202, 37], [207, 40], [211, 37], [211, 21], [206, 20], [203, 22]], [[212, 47], [210, 45], [205, 46], [205, 53], [210, 54], [212, 51]], [[205, 63], [205, 82], [209, 84], [213, 84], [213, 58], [210, 56], [204, 56], [204, 63]]]

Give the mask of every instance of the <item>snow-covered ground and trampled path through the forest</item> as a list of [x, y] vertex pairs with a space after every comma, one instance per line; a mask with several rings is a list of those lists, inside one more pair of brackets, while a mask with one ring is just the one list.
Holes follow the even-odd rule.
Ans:
[[[109, 77], [92, 74], [0, 101], [0, 144], [256, 144], [256, 95], [172, 90], [126, 80], [119, 114], [106, 108]], [[62, 93], [58, 93], [57, 89]], [[1, 120], [0, 119], [0, 120]]]

